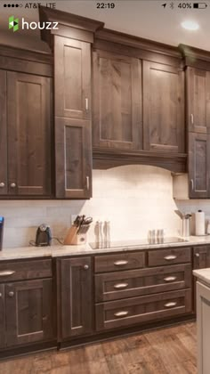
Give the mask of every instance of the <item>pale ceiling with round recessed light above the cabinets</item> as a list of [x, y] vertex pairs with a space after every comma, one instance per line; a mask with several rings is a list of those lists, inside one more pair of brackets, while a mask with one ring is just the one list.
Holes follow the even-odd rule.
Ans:
[[[210, 0], [206, 1], [208, 6], [205, 10], [180, 9], [178, 4], [183, 3], [182, 0], [113, 0], [116, 5], [115, 9], [97, 9], [96, 4], [100, 1], [57, 0], [56, 8], [64, 12], [72, 12], [101, 20], [105, 22], [106, 28], [112, 28], [137, 37], [145, 37], [169, 45], [182, 43], [210, 51]], [[112, 2], [112, 0], [109, 0], [109, 2]], [[108, 0], [104, 0], [104, 3], [108, 3]], [[173, 10], [170, 7], [172, 3], [174, 4]], [[26, 4], [26, 0], [23, 0], [22, 4]], [[161, 6], [162, 4], [166, 4], [166, 8]], [[28, 10], [24, 9], [24, 6], [20, 9], [2, 9], [0, 28], [4, 32], [0, 33], [0, 44], [4, 43], [5, 33], [10, 37], [13, 45], [18, 38], [23, 36], [28, 38], [28, 41], [30, 38], [35, 38], [39, 43], [39, 31], [37, 30], [23, 30], [18, 33], [8, 31], [7, 22], [10, 15], [24, 17], [28, 21], [38, 20], [36, 9]], [[183, 20], [196, 20], [200, 28], [197, 31], [185, 30], [181, 27]], [[44, 44], [40, 43], [40, 49], [44, 49]]]

